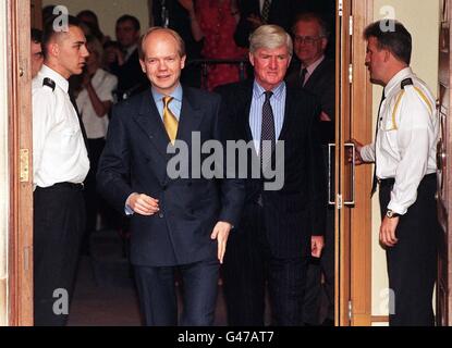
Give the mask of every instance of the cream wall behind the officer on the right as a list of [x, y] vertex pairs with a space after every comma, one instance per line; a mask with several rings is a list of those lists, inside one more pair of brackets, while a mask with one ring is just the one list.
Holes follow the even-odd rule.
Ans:
[[[413, 37], [412, 63], [414, 72], [437, 92], [439, 0], [375, 0], [374, 18], [388, 17], [392, 12]], [[381, 13], [380, 13], [381, 11]], [[378, 112], [381, 87], [374, 87], [372, 115]], [[372, 117], [375, 120], [376, 117]], [[375, 124], [374, 124], [375, 127]], [[380, 211], [378, 194], [372, 200], [372, 315], [388, 315], [388, 276], [384, 250], [379, 246]]]

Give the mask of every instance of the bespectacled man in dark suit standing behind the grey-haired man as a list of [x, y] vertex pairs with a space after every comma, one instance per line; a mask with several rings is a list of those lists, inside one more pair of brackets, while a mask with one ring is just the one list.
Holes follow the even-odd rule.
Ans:
[[[328, 144], [334, 142], [335, 108], [335, 63], [326, 58], [329, 30], [322, 17], [315, 13], [297, 16], [293, 26], [294, 52], [300, 60], [288, 73], [286, 83], [293, 87], [304, 87], [315, 94], [321, 103], [320, 137], [325, 161], [328, 163]], [[334, 320], [334, 209], [327, 211], [326, 246], [319, 259], [311, 259], [307, 272], [304, 304], [305, 323], [332, 324]], [[325, 276], [322, 296], [321, 274]], [[322, 299], [328, 308], [326, 318], [320, 318]]]

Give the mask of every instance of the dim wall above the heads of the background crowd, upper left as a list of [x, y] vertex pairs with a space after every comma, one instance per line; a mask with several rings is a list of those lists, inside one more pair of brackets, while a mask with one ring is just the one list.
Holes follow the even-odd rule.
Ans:
[[100, 29], [105, 35], [115, 39], [114, 25], [123, 14], [136, 16], [142, 25], [142, 33], [149, 26], [148, 0], [44, 0], [48, 4], [65, 5], [69, 13], [76, 15], [82, 10], [91, 10], [99, 18]]

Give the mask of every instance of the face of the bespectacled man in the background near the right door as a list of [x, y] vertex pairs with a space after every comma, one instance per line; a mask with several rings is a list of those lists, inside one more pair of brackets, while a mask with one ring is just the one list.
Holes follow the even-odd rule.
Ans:
[[308, 66], [323, 55], [328, 40], [320, 37], [320, 25], [317, 21], [298, 22], [294, 28], [294, 52]]

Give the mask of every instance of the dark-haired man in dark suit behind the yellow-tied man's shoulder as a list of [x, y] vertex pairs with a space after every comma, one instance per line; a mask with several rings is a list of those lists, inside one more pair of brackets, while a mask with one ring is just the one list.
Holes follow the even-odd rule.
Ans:
[[133, 15], [124, 14], [117, 21], [117, 39], [121, 50], [115, 50], [115, 59], [109, 63], [111, 73], [118, 77], [119, 100], [139, 94], [148, 86], [146, 76], [139, 66], [139, 21]]

